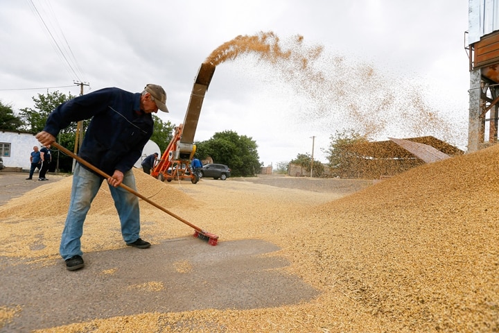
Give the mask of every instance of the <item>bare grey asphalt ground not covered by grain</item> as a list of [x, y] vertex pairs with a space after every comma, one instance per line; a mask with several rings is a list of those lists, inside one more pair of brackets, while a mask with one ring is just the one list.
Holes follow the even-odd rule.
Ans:
[[[1, 205], [45, 183], [25, 180], [27, 176], [0, 171]], [[55, 182], [64, 175], [47, 177], [49, 182]], [[282, 182], [281, 177], [267, 180]], [[186, 237], [145, 250], [121, 248], [87, 253], [85, 268], [74, 272], [66, 270], [62, 259], [40, 266], [0, 255], [0, 307], [22, 309], [0, 327], [0, 332], [30, 332], [144, 311], [277, 307], [317, 296], [317, 291], [299, 278], [281, 273], [278, 268], [288, 266], [286, 259], [261, 256], [277, 250], [274, 244], [259, 239], [209, 246], [206, 241]], [[175, 269], [177, 262], [189, 262], [190, 273], [179, 273]], [[103, 274], [105, 271], [113, 273]], [[150, 282], [162, 289], [133, 288]]]

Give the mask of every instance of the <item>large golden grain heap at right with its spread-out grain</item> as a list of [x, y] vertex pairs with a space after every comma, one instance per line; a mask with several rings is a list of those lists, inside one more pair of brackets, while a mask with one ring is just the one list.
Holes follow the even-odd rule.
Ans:
[[[321, 294], [283, 307], [146, 313], [37, 332], [497, 332], [498, 156], [499, 145], [417, 167], [342, 198], [230, 179], [170, 183], [169, 191], [196, 203], [177, 205], [179, 214], [204, 221], [221, 241], [277, 244], [279, 255], [292, 262], [286, 271]], [[146, 221], [155, 216], [143, 212]], [[8, 234], [21, 234], [25, 222], [12, 215], [0, 220]], [[144, 237], [155, 237], [164, 225], [150, 222]], [[166, 229], [164, 239], [185, 232]], [[92, 232], [105, 237], [110, 231]], [[56, 255], [56, 248], [52, 252], [46, 255]], [[189, 274], [189, 262], [175, 268]], [[161, 285], [135, 287], [154, 293]], [[21, 309], [2, 311], [12, 316]]]

